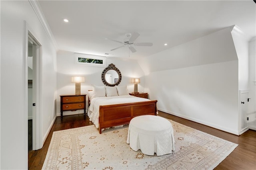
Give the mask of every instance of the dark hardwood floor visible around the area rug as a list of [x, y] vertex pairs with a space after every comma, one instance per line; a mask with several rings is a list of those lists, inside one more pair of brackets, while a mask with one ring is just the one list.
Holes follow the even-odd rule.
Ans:
[[[240, 137], [202, 125], [200, 123], [195, 123], [174, 115], [170, 115], [164, 112], [159, 111], [159, 115], [167, 119], [172, 119], [183, 125], [187, 125], [194, 129], [198, 129], [205, 133], [220, 137], [222, 139], [237, 143], [238, 147], [225, 159], [223, 160], [214, 170], [256, 170], [256, 131], [248, 130]], [[54, 131], [70, 129], [75, 127], [82, 127], [92, 125], [92, 122], [89, 121], [88, 117], [84, 120], [84, 115], [70, 115], [64, 116], [63, 120], [60, 117], [57, 117], [42, 149], [39, 150], [30, 150], [28, 152], [28, 169], [29, 170], [39, 170], [42, 169], [44, 159], [50, 141], [52, 138], [52, 133]]]

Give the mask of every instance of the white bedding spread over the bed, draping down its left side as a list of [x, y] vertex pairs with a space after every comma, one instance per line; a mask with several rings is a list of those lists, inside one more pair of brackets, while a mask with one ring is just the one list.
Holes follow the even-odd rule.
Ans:
[[98, 128], [100, 106], [110, 105], [110, 104], [145, 102], [145, 101], [150, 101], [150, 100], [146, 98], [138, 98], [130, 95], [93, 98], [88, 108], [88, 117], [90, 118], [90, 121], [94, 123], [96, 128]]

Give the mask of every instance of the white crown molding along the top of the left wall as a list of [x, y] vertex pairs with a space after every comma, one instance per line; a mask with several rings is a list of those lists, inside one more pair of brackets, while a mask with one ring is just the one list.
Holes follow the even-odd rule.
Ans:
[[41, 22], [44, 31], [46, 32], [46, 34], [48, 35], [48, 37], [50, 38], [50, 40], [52, 41], [56, 51], [58, 51], [58, 45], [54, 39], [54, 36], [52, 35], [52, 31], [44, 17], [44, 14], [42, 13], [42, 10], [40, 8], [40, 5], [38, 4], [37, 0], [28, 0], [28, 2], [30, 3], [30, 5], [32, 6], [34, 12], [36, 13], [36, 16], [38, 17], [39, 21]]

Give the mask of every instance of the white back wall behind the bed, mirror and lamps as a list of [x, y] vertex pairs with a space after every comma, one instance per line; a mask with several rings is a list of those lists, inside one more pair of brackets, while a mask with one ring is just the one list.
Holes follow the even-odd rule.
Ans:
[[[122, 80], [118, 86], [127, 86], [129, 92], [133, 92], [134, 84], [130, 83], [131, 78], [140, 78], [138, 91], [144, 91], [144, 72], [135, 60], [118, 59], [114, 57], [106, 58], [106, 67], [108, 64], [115, 64], [122, 74]], [[102, 71], [105, 69], [100, 66], [87, 66], [75, 64], [74, 53], [59, 51], [57, 53], [57, 105], [56, 113], [60, 116], [60, 95], [74, 94], [75, 84], [71, 82], [72, 76], [84, 76], [85, 82], [81, 83], [81, 93], [88, 94], [88, 90], [92, 90], [92, 85], [103, 86], [101, 80]], [[88, 99], [88, 96], [87, 96]], [[87, 103], [88, 104], [88, 103]], [[84, 113], [83, 110], [65, 111], [63, 115]]]

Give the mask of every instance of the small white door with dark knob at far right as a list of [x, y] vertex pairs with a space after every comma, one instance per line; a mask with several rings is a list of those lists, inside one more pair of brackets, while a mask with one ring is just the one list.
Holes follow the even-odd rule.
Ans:
[[240, 135], [248, 130], [248, 98], [249, 92], [240, 90]]

